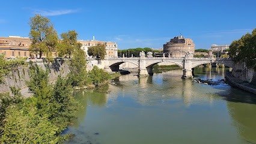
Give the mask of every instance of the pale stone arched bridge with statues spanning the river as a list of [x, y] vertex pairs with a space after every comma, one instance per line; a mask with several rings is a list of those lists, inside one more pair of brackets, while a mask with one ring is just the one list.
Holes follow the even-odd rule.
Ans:
[[183, 68], [183, 78], [189, 78], [192, 76], [192, 68], [198, 65], [207, 63], [218, 63], [224, 64], [228, 67], [233, 68], [234, 63], [231, 59], [222, 58], [194, 58], [193, 55], [186, 55], [184, 58], [168, 58], [168, 57], [152, 57], [148, 58], [140, 56], [139, 58], [105, 58], [104, 60], [87, 59], [87, 64], [91, 66], [97, 65], [100, 68], [104, 68], [107, 71], [118, 71], [120, 70], [119, 65], [124, 62], [130, 62], [136, 65], [139, 69], [139, 76], [153, 75], [153, 65], [159, 64], [160, 62], [170, 62], [170, 64], [176, 64]]

